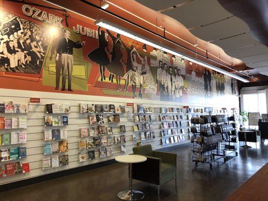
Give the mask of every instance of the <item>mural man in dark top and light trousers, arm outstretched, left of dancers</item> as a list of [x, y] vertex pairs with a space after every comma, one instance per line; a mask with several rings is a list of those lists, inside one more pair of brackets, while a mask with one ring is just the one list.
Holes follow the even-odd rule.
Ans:
[[71, 89], [71, 77], [72, 77], [72, 67], [73, 67], [73, 57], [72, 49], [81, 48], [85, 44], [85, 41], [81, 43], [75, 43], [70, 40], [71, 33], [69, 30], [64, 31], [64, 38], [59, 41], [56, 61], [59, 60], [59, 55], [61, 54], [61, 72], [62, 72], [62, 83], [61, 90], [64, 91], [66, 83], [66, 75], [68, 72], [68, 91], [73, 91]]

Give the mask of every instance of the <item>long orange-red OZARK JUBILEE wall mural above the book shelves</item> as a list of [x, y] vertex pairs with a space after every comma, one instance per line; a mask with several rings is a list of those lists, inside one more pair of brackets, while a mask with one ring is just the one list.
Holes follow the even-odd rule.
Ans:
[[66, 28], [61, 13], [10, 2], [0, 23], [2, 88], [189, 103], [238, 94], [229, 76], [82, 17]]

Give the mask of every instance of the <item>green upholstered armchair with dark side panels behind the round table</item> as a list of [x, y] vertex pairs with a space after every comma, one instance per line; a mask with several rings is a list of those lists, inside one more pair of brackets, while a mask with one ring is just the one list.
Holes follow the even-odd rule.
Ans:
[[133, 154], [143, 155], [147, 160], [142, 163], [133, 163], [132, 178], [157, 185], [159, 194], [160, 185], [175, 179], [177, 183], [177, 155], [168, 152], [153, 151], [151, 145], [134, 147]]

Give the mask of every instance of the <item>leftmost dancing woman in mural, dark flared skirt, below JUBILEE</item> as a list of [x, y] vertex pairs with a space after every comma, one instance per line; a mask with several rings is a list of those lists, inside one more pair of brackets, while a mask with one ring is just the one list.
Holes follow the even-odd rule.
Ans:
[[105, 51], [105, 49], [111, 54], [111, 52], [108, 50], [108, 42], [105, 39], [105, 32], [102, 30], [100, 31], [101, 27], [98, 27], [98, 34], [99, 34], [99, 47], [95, 50], [91, 51], [87, 54], [87, 57], [99, 64], [100, 67], [100, 74], [101, 74], [101, 81], [105, 80], [105, 67], [110, 63], [110, 60], [108, 58], [108, 55]]

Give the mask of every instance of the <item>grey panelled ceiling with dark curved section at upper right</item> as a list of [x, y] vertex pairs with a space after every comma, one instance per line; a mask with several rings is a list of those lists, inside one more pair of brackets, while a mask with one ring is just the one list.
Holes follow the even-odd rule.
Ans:
[[[268, 75], [268, 1], [135, 0], [182, 23], [196, 37], [242, 60], [249, 73]], [[235, 64], [234, 64], [235, 65]]]

